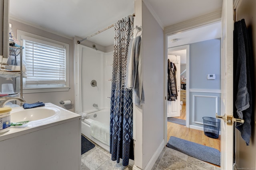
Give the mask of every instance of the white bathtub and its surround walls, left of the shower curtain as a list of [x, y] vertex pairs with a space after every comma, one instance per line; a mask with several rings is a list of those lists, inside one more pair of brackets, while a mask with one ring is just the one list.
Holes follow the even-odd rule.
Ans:
[[[105, 53], [100, 50], [100, 46], [98, 48], [98, 45], [98, 51], [81, 44], [75, 45], [75, 47], [75, 107], [76, 113], [82, 115], [81, 131], [88, 139], [109, 151], [109, 144], [107, 145], [99, 141], [99, 138], [94, 138], [95, 136], [92, 137], [90, 125], [94, 120], [99, 121], [102, 123], [100, 127], [107, 125], [108, 133], [110, 133], [110, 91], [113, 51]], [[92, 80], [97, 82], [97, 86], [91, 86]]]

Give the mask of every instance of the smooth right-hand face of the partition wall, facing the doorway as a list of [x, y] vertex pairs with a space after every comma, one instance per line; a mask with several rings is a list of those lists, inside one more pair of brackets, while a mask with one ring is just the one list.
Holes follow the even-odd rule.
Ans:
[[164, 32], [148, 8], [142, 6], [143, 166], [164, 140]]

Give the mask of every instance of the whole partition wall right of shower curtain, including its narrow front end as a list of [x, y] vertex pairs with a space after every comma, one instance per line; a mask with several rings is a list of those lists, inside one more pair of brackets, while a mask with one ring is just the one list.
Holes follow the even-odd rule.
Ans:
[[[142, 10], [142, 17], [140, 11]], [[135, 165], [141, 169], [152, 168], [154, 156], [162, 151], [164, 142], [164, 33], [141, 0], [135, 1], [134, 26], [142, 25], [143, 86], [145, 104], [136, 106]], [[140, 118], [139, 120], [137, 118]], [[142, 120], [141, 120], [142, 118]], [[142, 129], [139, 129], [142, 128]], [[141, 133], [141, 134], [140, 134]], [[138, 138], [142, 135], [142, 138]], [[142, 140], [141, 149], [136, 146]], [[140, 144], [139, 144], [140, 145]], [[160, 147], [162, 146], [162, 147]], [[160, 147], [160, 148], [159, 148]], [[138, 150], [142, 153], [138, 153]], [[141, 156], [138, 158], [138, 156]], [[142, 162], [138, 162], [142, 160]]]

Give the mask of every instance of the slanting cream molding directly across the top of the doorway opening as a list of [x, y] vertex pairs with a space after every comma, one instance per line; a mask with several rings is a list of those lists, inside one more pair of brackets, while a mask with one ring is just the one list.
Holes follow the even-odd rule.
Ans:
[[186, 21], [177, 23], [175, 25], [164, 27], [164, 32], [166, 34], [172, 34], [172, 33], [177, 33], [179, 31], [184, 31], [184, 30], [192, 29], [202, 25], [218, 22], [221, 20], [221, 12], [222, 10], [218, 10], [216, 12], [206, 14], [204, 16], [200, 16], [192, 20], [186, 20]]

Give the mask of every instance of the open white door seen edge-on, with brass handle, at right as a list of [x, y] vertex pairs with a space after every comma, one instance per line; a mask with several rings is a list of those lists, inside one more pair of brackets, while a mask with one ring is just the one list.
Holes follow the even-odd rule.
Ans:
[[[222, 5], [221, 115], [233, 115], [233, 0]], [[221, 169], [233, 169], [233, 126], [221, 120]]]

